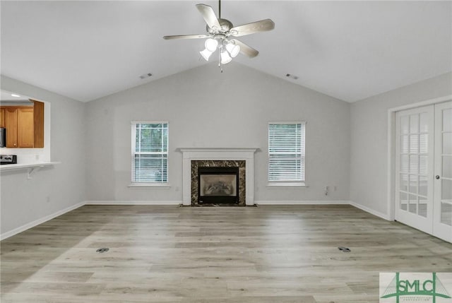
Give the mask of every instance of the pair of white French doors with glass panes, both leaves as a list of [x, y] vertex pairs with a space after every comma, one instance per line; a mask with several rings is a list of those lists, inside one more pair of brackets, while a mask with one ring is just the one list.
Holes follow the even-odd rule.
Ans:
[[452, 242], [452, 102], [396, 113], [396, 220]]

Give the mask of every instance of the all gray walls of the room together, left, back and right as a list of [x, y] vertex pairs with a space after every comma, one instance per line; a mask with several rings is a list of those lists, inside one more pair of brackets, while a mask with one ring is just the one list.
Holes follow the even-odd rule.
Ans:
[[[83, 201], [182, 201], [176, 148], [257, 147], [256, 201], [348, 201], [387, 214], [387, 110], [452, 94], [452, 74], [352, 105], [240, 64], [208, 64], [83, 104], [1, 76], [4, 90], [51, 102], [60, 165], [1, 174], [1, 234]], [[169, 121], [170, 189], [130, 189], [132, 120]], [[266, 186], [268, 121], [307, 121], [307, 188]], [[324, 186], [331, 186], [328, 196]], [[336, 187], [336, 191], [334, 191]]]

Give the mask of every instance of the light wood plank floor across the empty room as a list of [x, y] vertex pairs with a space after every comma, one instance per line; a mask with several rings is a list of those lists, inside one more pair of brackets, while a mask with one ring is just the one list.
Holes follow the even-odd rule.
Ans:
[[1, 303], [379, 302], [383, 271], [452, 244], [352, 206], [83, 206], [1, 242]]

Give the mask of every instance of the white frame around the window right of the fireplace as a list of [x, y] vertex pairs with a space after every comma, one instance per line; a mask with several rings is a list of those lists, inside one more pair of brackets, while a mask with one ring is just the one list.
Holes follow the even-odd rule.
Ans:
[[[273, 124], [301, 124], [302, 151], [300, 155], [301, 179], [297, 180], [270, 180], [270, 125]], [[308, 187], [306, 184], [306, 121], [270, 121], [267, 125], [267, 187]]]

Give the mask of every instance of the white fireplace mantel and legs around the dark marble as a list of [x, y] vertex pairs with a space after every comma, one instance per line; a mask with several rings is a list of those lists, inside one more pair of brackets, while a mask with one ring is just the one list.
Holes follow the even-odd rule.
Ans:
[[191, 161], [244, 160], [245, 204], [254, 205], [254, 153], [258, 148], [177, 148], [182, 153], [182, 204], [191, 206]]

